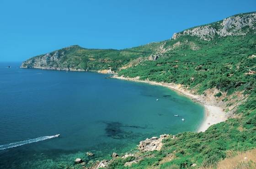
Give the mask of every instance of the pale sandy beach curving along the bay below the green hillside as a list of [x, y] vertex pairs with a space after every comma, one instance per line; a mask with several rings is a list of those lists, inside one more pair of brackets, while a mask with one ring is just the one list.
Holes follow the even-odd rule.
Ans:
[[214, 106], [212, 103], [206, 101], [203, 95], [192, 94], [191, 91], [182, 88], [181, 84], [144, 81], [144, 80], [139, 80], [139, 77], [126, 78], [126, 77], [120, 77], [117, 75], [113, 75], [111, 76], [111, 78], [167, 87], [201, 104], [204, 107], [205, 116], [200, 127], [197, 129], [197, 132], [205, 132], [208, 129], [208, 127], [212, 126], [213, 124], [217, 124], [219, 122], [226, 121], [228, 119], [228, 117], [226, 116], [226, 114], [224, 113], [223, 109], [220, 106]]

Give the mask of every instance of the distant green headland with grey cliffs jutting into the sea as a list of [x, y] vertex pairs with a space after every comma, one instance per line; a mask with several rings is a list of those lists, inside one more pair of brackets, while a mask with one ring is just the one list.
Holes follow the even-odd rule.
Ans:
[[[83, 69], [87, 71], [102, 70], [111, 68], [116, 71], [128, 62], [148, 56], [155, 52], [160, 46], [160, 42], [149, 43], [135, 48], [116, 49], [86, 49], [78, 45], [63, 48], [49, 53], [47, 63], [42, 62], [41, 67], [54, 67], [60, 69]], [[56, 54], [57, 53], [57, 54]], [[45, 54], [27, 60], [23, 65], [32, 68], [34, 63], [39, 63], [38, 58], [43, 58]], [[56, 59], [52, 59], [53, 57]], [[58, 60], [57, 60], [58, 59]], [[32, 62], [30, 62], [32, 61]]]

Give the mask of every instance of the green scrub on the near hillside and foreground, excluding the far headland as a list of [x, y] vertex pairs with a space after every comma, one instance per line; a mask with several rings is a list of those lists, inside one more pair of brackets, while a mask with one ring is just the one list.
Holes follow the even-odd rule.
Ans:
[[[216, 87], [231, 95], [242, 91], [248, 99], [238, 107], [237, 118], [213, 125], [206, 132], [183, 132], [176, 139], [166, 139], [161, 151], [151, 152], [147, 158], [133, 164], [132, 168], [149, 166], [165, 169], [189, 168], [192, 164], [209, 166], [226, 157], [227, 150], [244, 151], [256, 148], [256, 34], [215, 38], [205, 42], [196, 37], [184, 36], [169, 40], [165, 48], [181, 42], [156, 61], [145, 60], [135, 67], [123, 69], [118, 74], [157, 82], [172, 82], [189, 86], [198, 93]], [[196, 46], [197, 50], [193, 50]], [[221, 92], [215, 97], [220, 97]], [[175, 158], [161, 164], [173, 154]], [[144, 154], [145, 155], [145, 154]], [[113, 168], [123, 168], [114, 163]]]

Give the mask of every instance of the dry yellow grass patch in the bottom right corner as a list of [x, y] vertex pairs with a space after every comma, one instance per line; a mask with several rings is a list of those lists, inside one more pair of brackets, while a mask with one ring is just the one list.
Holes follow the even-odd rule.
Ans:
[[204, 169], [256, 169], [256, 149], [246, 152], [229, 151], [229, 156], [217, 164]]

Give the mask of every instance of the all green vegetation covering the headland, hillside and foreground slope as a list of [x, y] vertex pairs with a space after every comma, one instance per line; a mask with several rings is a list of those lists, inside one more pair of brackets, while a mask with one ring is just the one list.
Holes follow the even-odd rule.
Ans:
[[[244, 14], [237, 16], [240, 15]], [[221, 25], [215, 22], [211, 26], [219, 29]], [[248, 30], [244, 27], [240, 31]], [[166, 139], [160, 151], [142, 153], [141, 160], [132, 168], [178, 169], [189, 168], [194, 163], [197, 167], [208, 166], [225, 158], [228, 150], [256, 148], [256, 73], [250, 73], [256, 71], [255, 30], [250, 30], [245, 36], [216, 35], [211, 41], [183, 35], [176, 40], [124, 50], [85, 49], [79, 46], [62, 50], [65, 53], [60, 58], [63, 67], [86, 70], [111, 67], [119, 76], [139, 76], [142, 80], [182, 84], [198, 94], [217, 88], [216, 98], [238, 92], [247, 98], [238, 106], [235, 118], [213, 125], [206, 132], [183, 132], [176, 139]], [[149, 60], [149, 56], [154, 54], [160, 54], [160, 57], [155, 61]], [[119, 69], [137, 58], [141, 59], [136, 64]], [[173, 159], [163, 162], [169, 156]], [[132, 160], [134, 158], [117, 158], [109, 168], [123, 169], [124, 164]]]

